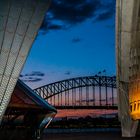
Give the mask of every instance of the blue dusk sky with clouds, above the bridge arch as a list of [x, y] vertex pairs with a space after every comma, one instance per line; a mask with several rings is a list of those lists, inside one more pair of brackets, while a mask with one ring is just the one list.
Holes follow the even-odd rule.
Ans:
[[116, 73], [115, 0], [52, 0], [20, 79], [36, 88], [100, 71]]

